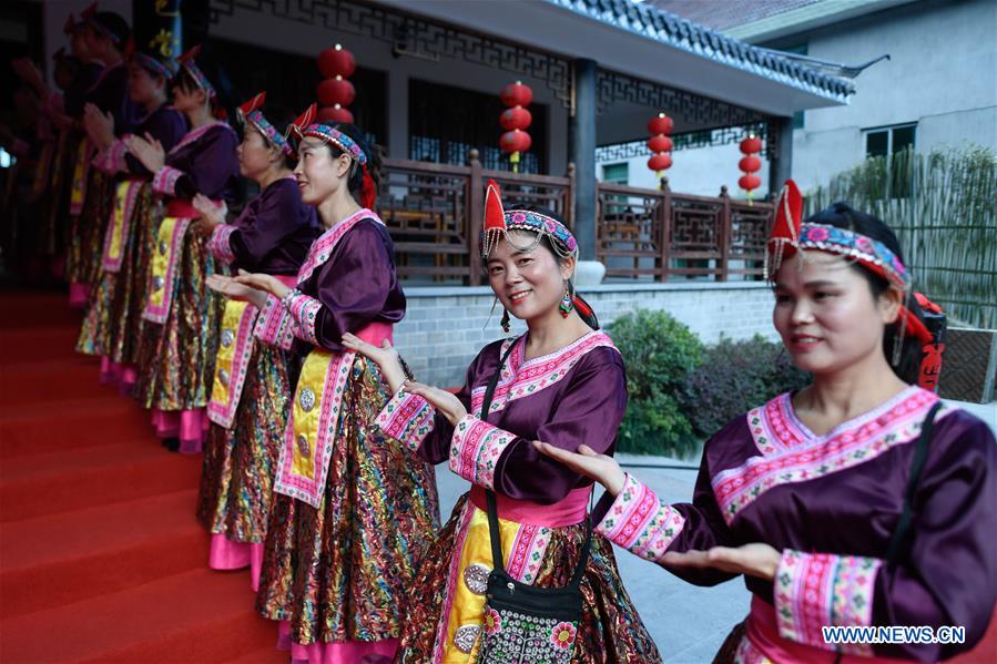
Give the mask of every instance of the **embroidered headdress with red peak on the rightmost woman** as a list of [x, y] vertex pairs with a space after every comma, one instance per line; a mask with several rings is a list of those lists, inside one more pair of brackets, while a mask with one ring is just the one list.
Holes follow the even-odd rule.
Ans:
[[[775, 280], [783, 261], [798, 249], [816, 249], [828, 254], [837, 254], [866, 269], [879, 275], [904, 294], [905, 302], [914, 297], [918, 306], [935, 314], [942, 309], [920, 293], [913, 293], [910, 275], [899, 256], [884, 243], [851, 231], [828, 224], [803, 222], [803, 195], [792, 180], [787, 180], [775, 203], [775, 222], [765, 247], [765, 275], [770, 282]], [[942, 351], [945, 346], [925, 326], [924, 321], [908, 306], [901, 305], [898, 317], [898, 337], [909, 336], [922, 345], [924, 358], [920, 366], [918, 385], [934, 389], [942, 368]], [[940, 335], [940, 330], [939, 330]], [[895, 348], [899, 349], [899, 338]], [[896, 361], [897, 358], [894, 358]]]

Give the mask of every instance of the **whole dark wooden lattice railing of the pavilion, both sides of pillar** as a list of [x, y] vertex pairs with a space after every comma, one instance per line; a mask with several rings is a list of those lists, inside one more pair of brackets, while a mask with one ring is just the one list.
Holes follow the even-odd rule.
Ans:
[[[506, 205], [540, 205], [574, 226], [574, 168], [563, 177], [481, 167], [477, 151], [466, 166], [386, 159], [378, 212], [395, 241], [398, 273], [407, 280], [477, 285], [482, 280], [479, 234], [485, 186], [495, 180]], [[726, 280], [762, 274], [772, 205], [675, 194], [616, 184], [597, 185], [596, 257], [607, 277]]]

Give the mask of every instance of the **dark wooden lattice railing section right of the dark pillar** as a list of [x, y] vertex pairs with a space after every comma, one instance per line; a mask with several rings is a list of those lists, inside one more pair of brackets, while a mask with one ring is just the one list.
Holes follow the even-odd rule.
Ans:
[[769, 202], [597, 185], [596, 257], [609, 278], [760, 277], [772, 218]]

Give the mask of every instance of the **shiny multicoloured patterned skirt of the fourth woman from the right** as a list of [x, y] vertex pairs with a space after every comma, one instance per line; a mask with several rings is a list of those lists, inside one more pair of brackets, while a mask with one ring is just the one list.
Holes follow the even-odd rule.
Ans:
[[212, 423], [197, 520], [233, 542], [262, 543], [292, 396], [287, 354], [256, 344], [232, 428]]

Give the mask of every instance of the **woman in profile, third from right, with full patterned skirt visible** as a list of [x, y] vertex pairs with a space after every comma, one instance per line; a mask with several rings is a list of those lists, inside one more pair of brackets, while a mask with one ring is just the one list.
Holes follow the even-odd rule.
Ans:
[[360, 130], [313, 123], [313, 112], [292, 127], [301, 137], [294, 173], [325, 233], [293, 287], [262, 273], [211, 284], [260, 307], [257, 340], [304, 356], [256, 606], [281, 621], [293, 661], [390, 658], [417, 559], [438, 525], [436, 481], [375, 426], [390, 384], [347, 343], [389, 343], [405, 315], [391, 238], [370, 210], [376, 156]]

